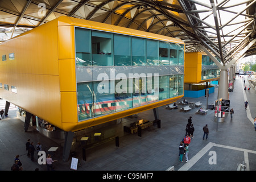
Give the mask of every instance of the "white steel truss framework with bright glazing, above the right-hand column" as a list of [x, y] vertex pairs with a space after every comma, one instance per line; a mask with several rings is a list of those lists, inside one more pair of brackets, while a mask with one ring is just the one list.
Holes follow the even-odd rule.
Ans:
[[[248, 54], [252, 54], [255, 50], [253, 44], [256, 1], [209, 0], [209, 3], [206, 2], [179, 0], [197, 40], [203, 46], [200, 46], [201, 49], [212, 52], [221, 61], [222, 66], [231, 60], [233, 60], [231, 63], [234, 63], [234, 58], [245, 56], [246, 51], [254, 47], [247, 51]], [[193, 52], [196, 49], [189, 51]]]

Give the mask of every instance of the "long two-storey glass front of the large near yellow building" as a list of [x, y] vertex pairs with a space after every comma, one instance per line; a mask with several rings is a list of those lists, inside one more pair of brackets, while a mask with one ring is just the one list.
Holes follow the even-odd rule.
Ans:
[[183, 95], [184, 45], [75, 27], [79, 121]]

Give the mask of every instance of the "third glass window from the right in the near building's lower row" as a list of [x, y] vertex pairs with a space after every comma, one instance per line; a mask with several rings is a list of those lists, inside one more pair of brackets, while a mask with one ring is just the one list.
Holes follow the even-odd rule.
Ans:
[[169, 98], [170, 76], [159, 76], [159, 100]]

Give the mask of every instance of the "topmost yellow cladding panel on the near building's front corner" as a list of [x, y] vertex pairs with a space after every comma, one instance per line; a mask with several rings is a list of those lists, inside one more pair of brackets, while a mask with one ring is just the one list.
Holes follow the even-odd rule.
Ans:
[[73, 26], [58, 27], [59, 59], [75, 59], [75, 33]]

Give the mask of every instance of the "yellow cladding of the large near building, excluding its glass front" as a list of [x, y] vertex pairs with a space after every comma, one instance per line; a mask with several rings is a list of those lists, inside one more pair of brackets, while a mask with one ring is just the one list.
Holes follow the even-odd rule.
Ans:
[[[166, 36], [61, 16], [0, 44], [0, 56], [7, 56], [6, 61], [0, 61], [0, 83], [9, 85], [9, 91], [0, 89], [0, 97], [65, 131], [81, 130], [183, 97], [78, 122], [74, 26], [184, 44], [179, 39]], [[13, 52], [15, 60], [9, 60], [8, 55]], [[17, 93], [11, 92], [11, 85], [16, 86]]]

